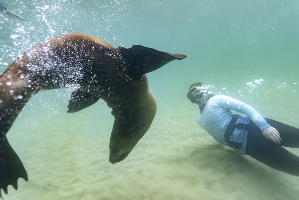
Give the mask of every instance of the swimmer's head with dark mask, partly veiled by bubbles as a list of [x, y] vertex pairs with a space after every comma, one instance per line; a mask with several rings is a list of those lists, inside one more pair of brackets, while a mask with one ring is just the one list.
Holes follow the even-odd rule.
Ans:
[[208, 94], [207, 86], [204, 83], [197, 82], [193, 83], [187, 94], [187, 98], [190, 99], [192, 103], [201, 104], [201, 101], [205, 99]]

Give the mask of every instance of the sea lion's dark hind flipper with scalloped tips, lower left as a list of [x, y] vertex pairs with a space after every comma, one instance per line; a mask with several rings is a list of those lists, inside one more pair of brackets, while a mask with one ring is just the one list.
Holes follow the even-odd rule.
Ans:
[[[0, 189], [7, 194], [7, 186], [18, 189], [18, 178], [28, 181], [27, 172], [16, 152], [13, 151], [6, 137], [0, 138]], [[1, 192], [1, 191], [0, 191]], [[0, 193], [1, 197], [1, 193]], [[2, 198], [2, 197], [1, 197]]]

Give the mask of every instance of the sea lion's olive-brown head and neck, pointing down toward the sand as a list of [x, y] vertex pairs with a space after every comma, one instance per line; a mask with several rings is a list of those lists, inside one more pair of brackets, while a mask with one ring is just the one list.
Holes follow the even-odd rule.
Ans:
[[[114, 92], [114, 95], [106, 100], [115, 117], [109, 144], [111, 163], [120, 162], [127, 157], [149, 129], [157, 110], [155, 96], [149, 88], [146, 74], [126, 82], [128, 83], [130, 87], [127, 85], [121, 88], [119, 91], [122, 92]], [[122, 97], [121, 102], [119, 97]], [[112, 103], [114, 100], [118, 103]]]

